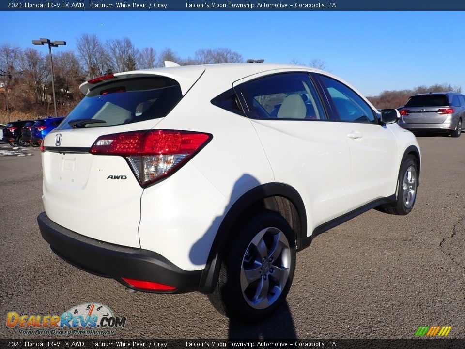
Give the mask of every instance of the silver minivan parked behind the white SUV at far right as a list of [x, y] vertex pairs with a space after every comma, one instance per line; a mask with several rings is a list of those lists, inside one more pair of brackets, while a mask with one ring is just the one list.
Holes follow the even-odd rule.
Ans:
[[452, 92], [413, 95], [400, 113], [400, 127], [410, 131], [449, 132], [452, 137], [460, 137], [465, 95]]

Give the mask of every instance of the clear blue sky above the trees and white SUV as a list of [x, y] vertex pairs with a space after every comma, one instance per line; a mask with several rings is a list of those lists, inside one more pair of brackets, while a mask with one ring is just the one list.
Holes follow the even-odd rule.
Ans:
[[[138, 48], [171, 48], [181, 57], [200, 48], [230, 48], [244, 59], [308, 64], [329, 71], [364, 95], [449, 83], [465, 89], [464, 13], [325, 11], [11, 11], [2, 14], [1, 43], [65, 40], [95, 33], [127, 36]], [[47, 48], [37, 47], [44, 53]]]

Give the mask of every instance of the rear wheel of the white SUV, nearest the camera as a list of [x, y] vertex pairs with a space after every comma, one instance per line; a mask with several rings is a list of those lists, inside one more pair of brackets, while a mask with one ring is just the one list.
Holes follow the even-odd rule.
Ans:
[[269, 317], [285, 301], [295, 270], [295, 237], [278, 213], [263, 211], [233, 229], [218, 284], [208, 296], [223, 315], [244, 322]]

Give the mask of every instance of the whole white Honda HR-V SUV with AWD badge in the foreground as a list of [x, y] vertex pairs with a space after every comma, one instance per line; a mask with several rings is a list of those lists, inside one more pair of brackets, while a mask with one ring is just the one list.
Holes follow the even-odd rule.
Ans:
[[316, 235], [414, 206], [415, 136], [329, 73], [177, 66], [80, 90], [41, 146], [39, 227], [62, 259], [131, 289], [200, 291], [228, 317], [263, 319]]

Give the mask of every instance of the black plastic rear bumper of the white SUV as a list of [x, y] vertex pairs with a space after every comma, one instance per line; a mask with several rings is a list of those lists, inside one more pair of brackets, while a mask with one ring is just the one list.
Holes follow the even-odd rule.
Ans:
[[[45, 212], [37, 217], [37, 222], [52, 251], [79, 269], [113, 278], [124, 286], [144, 292], [184, 293], [199, 289], [202, 270], [182, 270], [155, 252], [82, 236], [52, 222]], [[176, 290], [138, 289], [126, 283], [123, 277], [169, 285]]]

